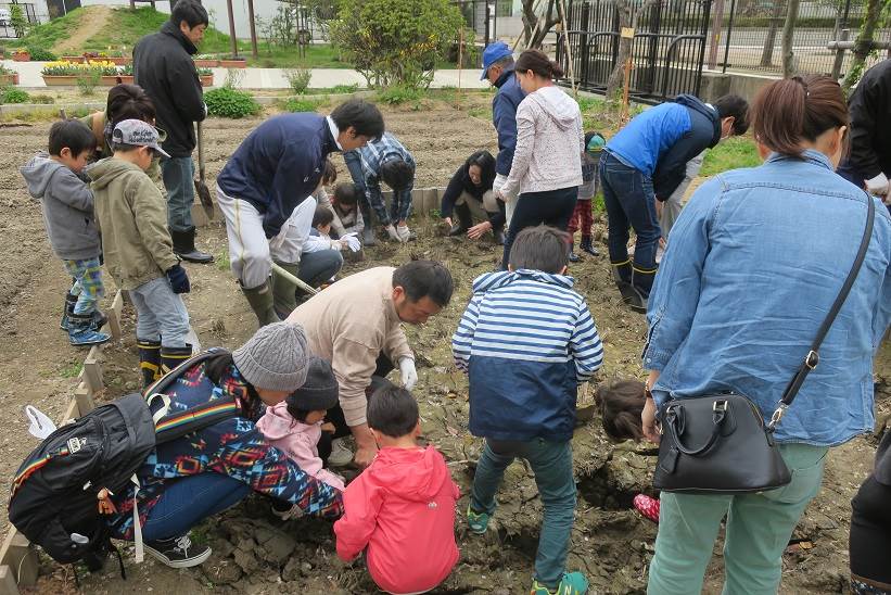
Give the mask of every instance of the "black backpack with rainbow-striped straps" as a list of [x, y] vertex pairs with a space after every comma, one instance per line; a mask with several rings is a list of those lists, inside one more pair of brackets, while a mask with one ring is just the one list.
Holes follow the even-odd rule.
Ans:
[[[240, 404], [228, 398], [166, 415], [170, 400], [162, 393], [186, 369], [224, 353], [213, 349], [195, 355], [151, 385], [148, 398], [128, 394], [47, 436], [15, 474], [10, 522], [55, 561], [82, 560], [90, 570], [101, 568], [107, 553], [117, 552], [102, 518], [115, 511], [109, 496], [126, 490], [130, 482], [139, 485], [136, 471], [155, 445], [239, 414]], [[139, 561], [141, 531], [136, 520]], [[123, 562], [120, 569], [124, 574]]]

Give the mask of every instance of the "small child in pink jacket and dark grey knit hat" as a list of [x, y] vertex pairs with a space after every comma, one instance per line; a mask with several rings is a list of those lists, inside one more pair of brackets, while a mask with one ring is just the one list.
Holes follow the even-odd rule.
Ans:
[[[319, 457], [322, 420], [329, 408], [338, 404], [338, 379], [331, 364], [313, 357], [306, 382], [278, 405], [268, 407], [257, 422], [257, 429], [267, 442], [282, 451], [306, 473], [343, 492], [343, 478], [323, 469]], [[273, 505], [276, 514], [290, 518], [287, 509]]]

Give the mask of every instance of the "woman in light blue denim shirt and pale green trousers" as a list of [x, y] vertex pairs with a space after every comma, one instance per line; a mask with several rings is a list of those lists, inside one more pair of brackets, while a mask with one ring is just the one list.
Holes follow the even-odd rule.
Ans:
[[785, 488], [743, 495], [662, 493], [648, 593], [699, 593], [726, 516], [725, 594], [775, 594], [781, 556], [819, 491], [829, 446], [873, 429], [873, 356], [891, 316], [891, 217], [835, 173], [848, 109], [827, 77], [778, 80], [752, 106], [760, 167], [718, 175], [690, 199], [649, 302], [645, 435], [669, 395], [733, 390], [769, 417], [854, 262], [876, 205], [863, 268], [777, 427], [792, 472]]

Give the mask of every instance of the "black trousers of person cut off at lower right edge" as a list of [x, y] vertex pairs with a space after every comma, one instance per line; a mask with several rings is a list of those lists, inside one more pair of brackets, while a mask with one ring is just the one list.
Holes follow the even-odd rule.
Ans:
[[891, 592], [891, 485], [869, 477], [851, 503], [851, 574]]

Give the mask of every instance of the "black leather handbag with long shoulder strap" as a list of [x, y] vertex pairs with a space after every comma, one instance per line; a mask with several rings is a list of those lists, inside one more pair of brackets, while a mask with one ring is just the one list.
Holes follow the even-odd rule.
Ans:
[[741, 394], [667, 400], [659, 414], [662, 440], [653, 486], [665, 492], [735, 494], [781, 488], [791, 481], [774, 442], [774, 429], [807, 374], [817, 367], [819, 345], [863, 265], [876, 215], [871, 197], [867, 197], [867, 204], [866, 229], [854, 265], [771, 421], [765, 426], [758, 405]]

